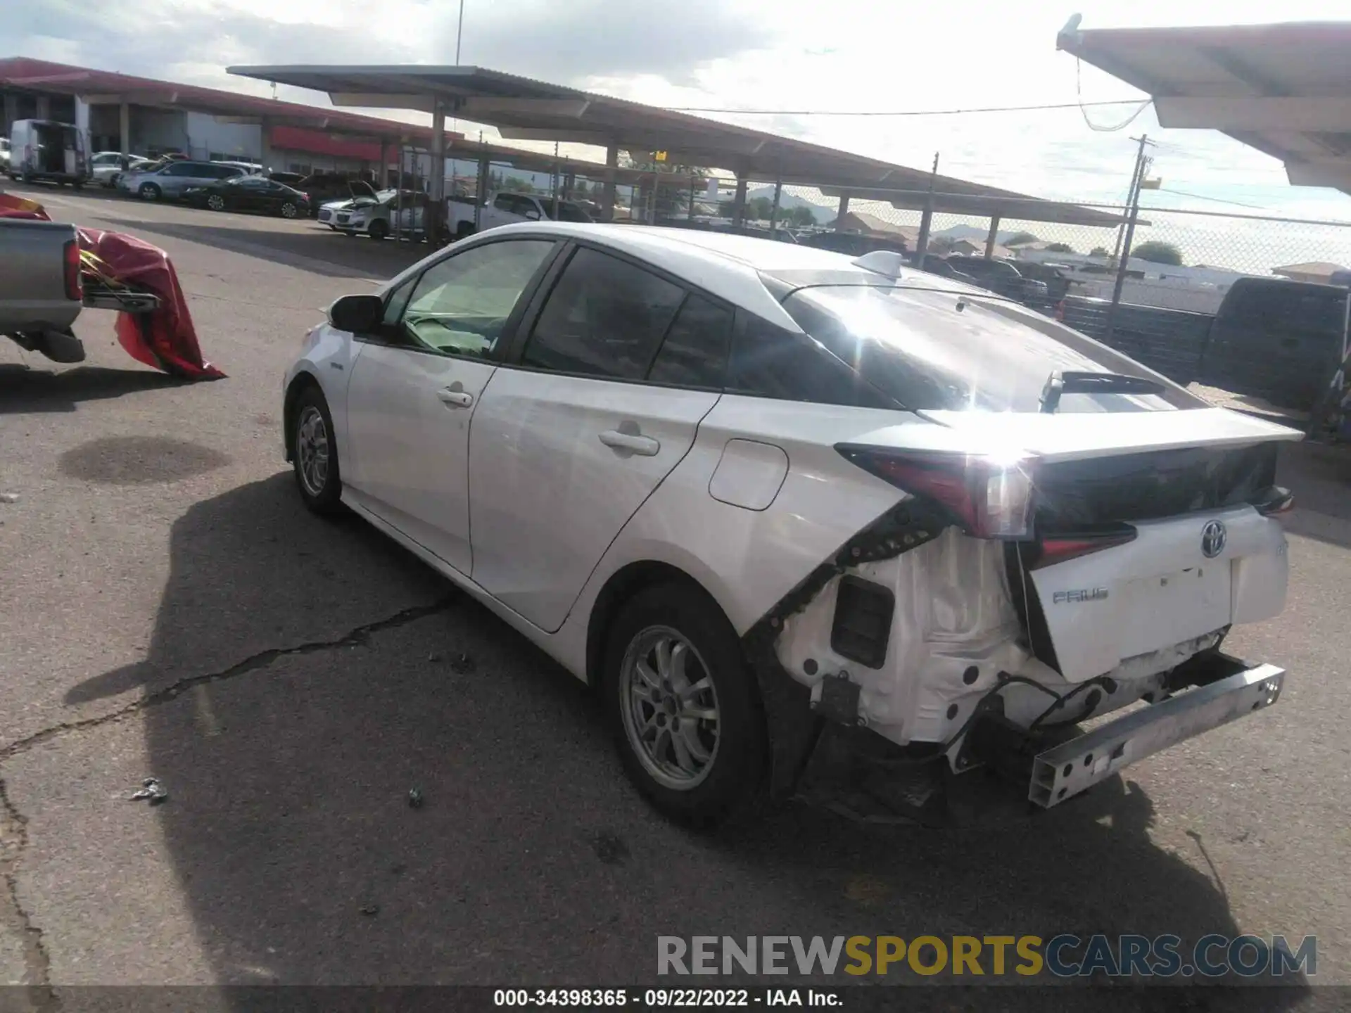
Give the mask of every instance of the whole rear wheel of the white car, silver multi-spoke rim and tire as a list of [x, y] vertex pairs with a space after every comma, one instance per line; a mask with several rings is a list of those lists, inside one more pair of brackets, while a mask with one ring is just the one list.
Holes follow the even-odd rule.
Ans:
[[639, 592], [611, 627], [601, 687], [624, 769], [663, 813], [708, 825], [755, 794], [766, 751], [755, 677], [700, 590]]

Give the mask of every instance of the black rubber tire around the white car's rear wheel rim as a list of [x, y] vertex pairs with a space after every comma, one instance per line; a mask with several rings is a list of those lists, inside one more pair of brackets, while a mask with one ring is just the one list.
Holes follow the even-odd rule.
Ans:
[[[673, 694], [671, 683], [662, 693], [662, 704], [635, 700], [628, 683], [626, 660], [630, 651], [648, 659], [648, 670], [657, 660], [644, 648], [651, 638], [663, 636], [662, 629], [674, 631], [685, 640], [693, 655], [686, 654], [686, 673], [692, 683], [712, 682], [712, 697], [686, 701], [692, 708], [716, 713], [716, 746], [709, 750], [709, 723], [696, 720], [693, 736], [709, 750], [707, 767], [689, 786], [674, 786], [671, 773], [661, 775], [653, 767], [661, 766], [654, 752], [669, 752], [678, 764], [674, 751], [678, 721], [690, 719], [684, 709], [684, 694]], [[686, 650], [688, 650], [686, 648]], [[689, 665], [697, 666], [693, 671]], [[703, 670], [703, 675], [698, 674]], [[681, 583], [662, 583], [643, 589], [623, 606], [611, 624], [600, 678], [605, 717], [615, 735], [624, 770], [630, 779], [659, 810], [682, 823], [709, 827], [720, 823], [747, 805], [761, 787], [766, 756], [765, 717], [759, 704], [755, 675], [746, 665], [736, 631], [721, 609], [700, 589]], [[680, 689], [676, 686], [674, 689]], [[658, 737], [654, 750], [635, 743], [639, 715], [650, 712], [644, 725]], [[665, 721], [662, 720], [665, 717]], [[659, 721], [661, 729], [653, 723]], [[659, 737], [666, 732], [666, 744]], [[690, 728], [684, 728], [689, 742]], [[643, 750], [643, 752], [640, 752]], [[685, 748], [689, 760], [689, 747]], [[669, 769], [669, 763], [666, 764]]]

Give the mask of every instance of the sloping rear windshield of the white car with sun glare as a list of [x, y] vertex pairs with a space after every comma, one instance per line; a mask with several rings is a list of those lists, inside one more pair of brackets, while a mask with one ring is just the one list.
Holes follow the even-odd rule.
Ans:
[[[889, 401], [916, 411], [1040, 411], [1051, 373], [1158, 377], [1127, 357], [1021, 307], [904, 286], [817, 286], [784, 300], [824, 351]], [[1166, 381], [1165, 381], [1166, 384]], [[1059, 413], [1144, 412], [1198, 404], [1162, 394], [1067, 393]]]

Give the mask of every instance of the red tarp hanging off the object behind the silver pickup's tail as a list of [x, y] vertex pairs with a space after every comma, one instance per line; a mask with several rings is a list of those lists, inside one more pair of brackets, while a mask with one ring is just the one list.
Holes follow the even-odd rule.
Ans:
[[[41, 204], [12, 193], [0, 193], [0, 217], [51, 220]], [[159, 297], [153, 313], [118, 313], [118, 342], [131, 358], [185, 380], [226, 375], [201, 357], [178, 274], [163, 250], [123, 232], [78, 227], [77, 232], [104, 277]]]

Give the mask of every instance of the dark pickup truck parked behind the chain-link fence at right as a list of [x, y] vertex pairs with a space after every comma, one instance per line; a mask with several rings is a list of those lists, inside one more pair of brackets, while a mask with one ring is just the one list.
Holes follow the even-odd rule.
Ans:
[[1174, 382], [1306, 411], [1346, 357], [1348, 294], [1339, 285], [1251, 277], [1229, 286], [1216, 313], [1129, 303], [1112, 313], [1108, 300], [1067, 296], [1056, 316]]

